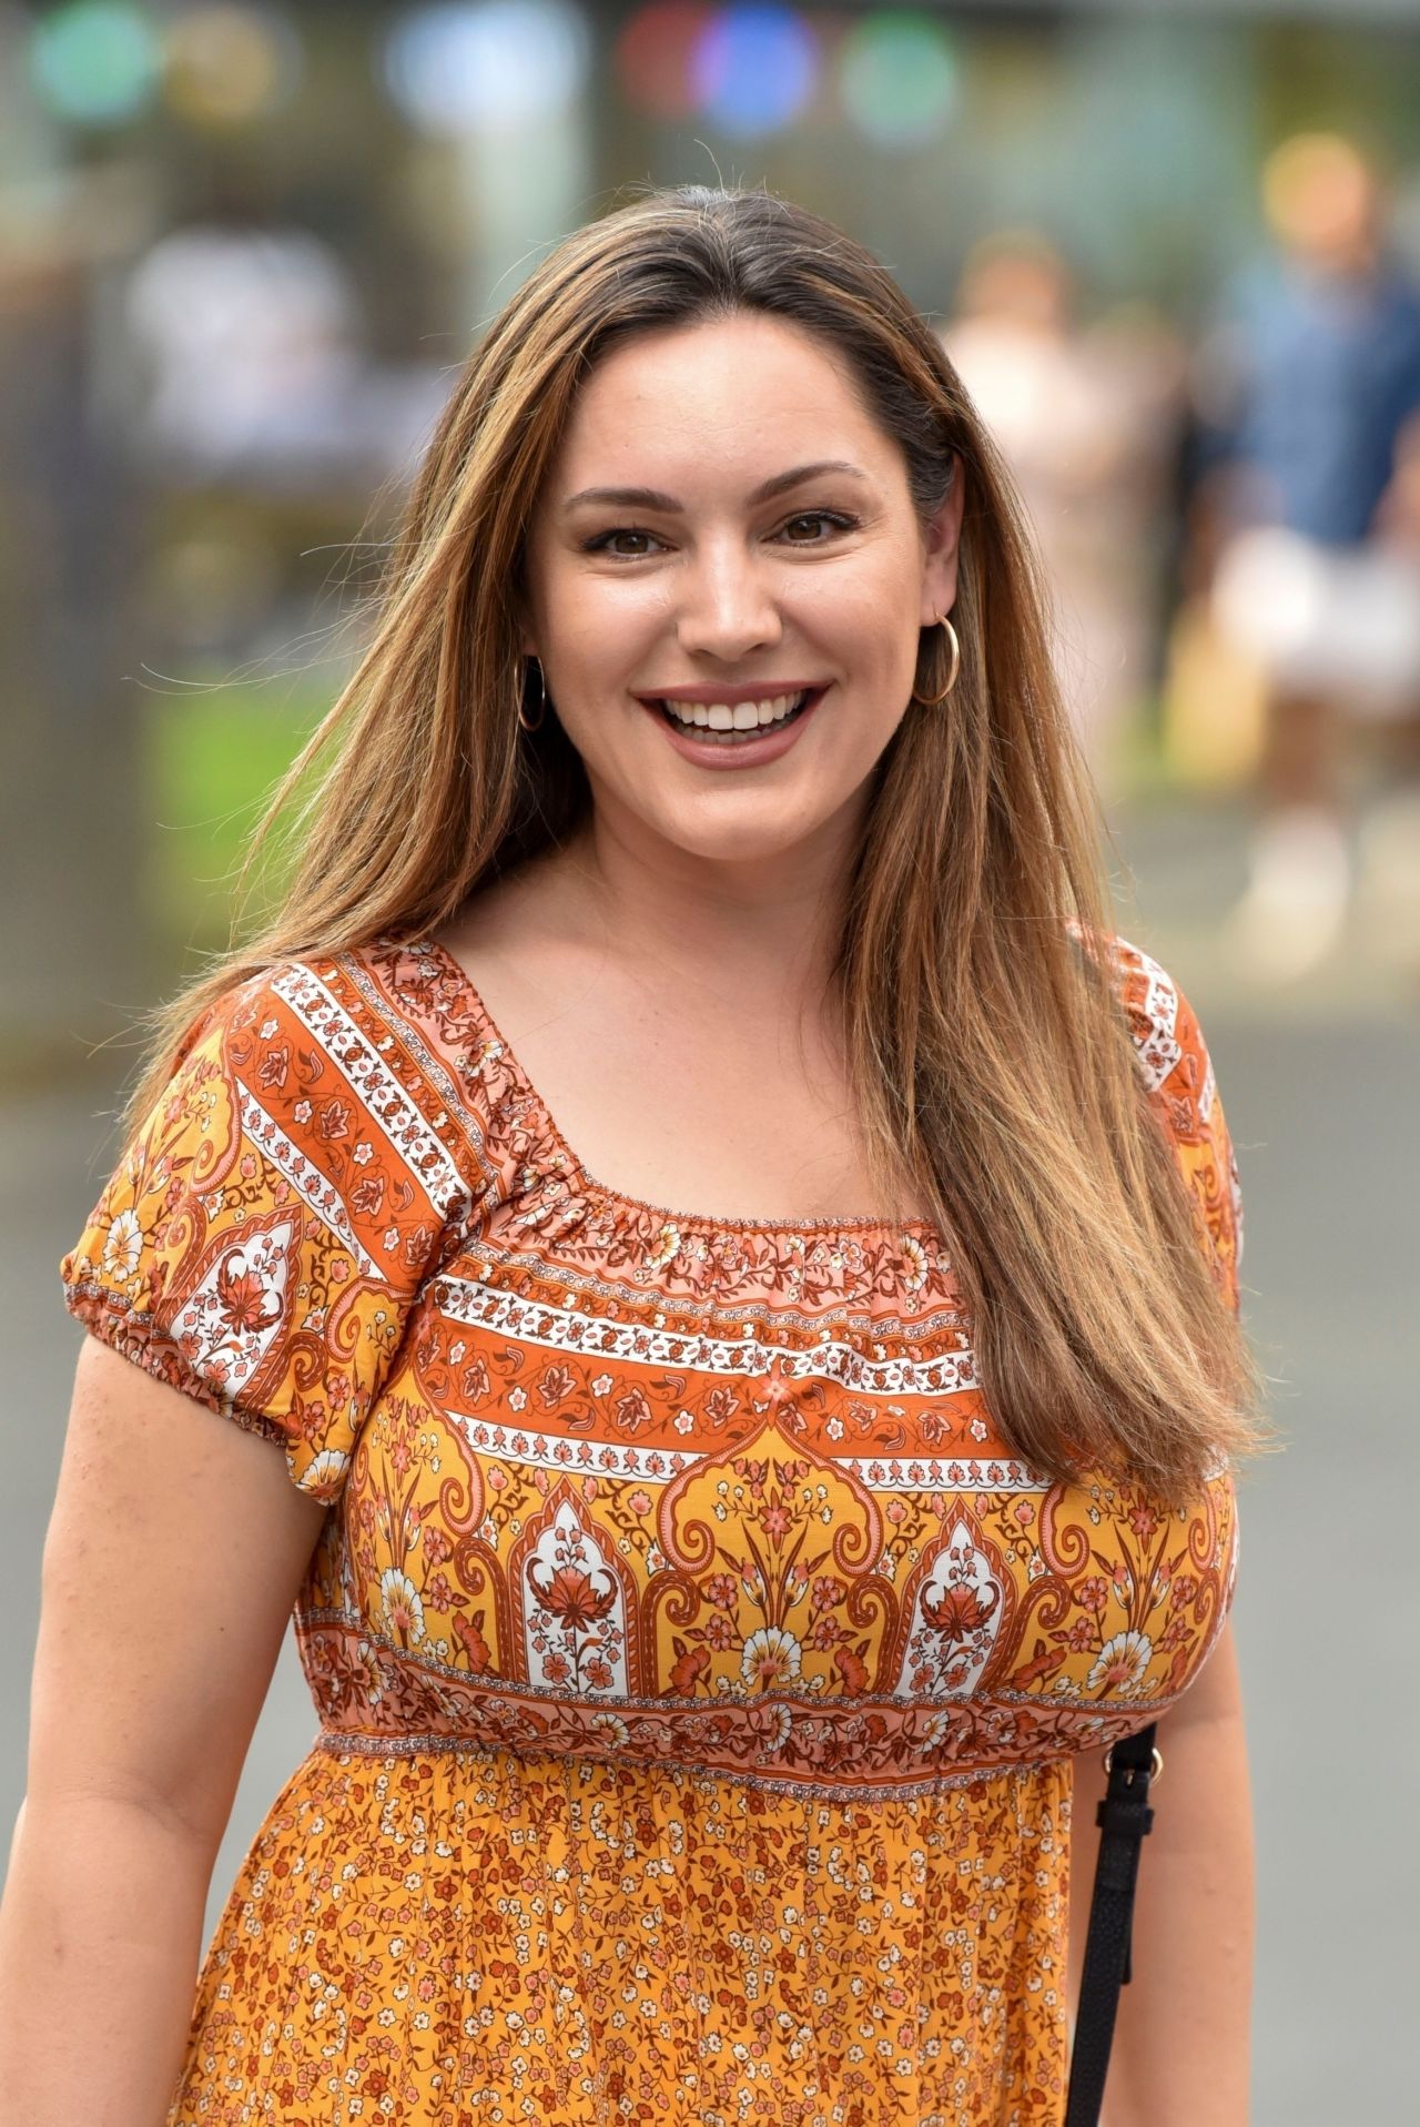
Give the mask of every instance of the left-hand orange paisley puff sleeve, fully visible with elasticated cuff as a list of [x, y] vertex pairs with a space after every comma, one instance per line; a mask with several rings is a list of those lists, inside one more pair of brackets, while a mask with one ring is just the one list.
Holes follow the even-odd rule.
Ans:
[[278, 1442], [327, 1502], [444, 1232], [381, 1061], [319, 964], [234, 985], [60, 1263], [94, 1336]]

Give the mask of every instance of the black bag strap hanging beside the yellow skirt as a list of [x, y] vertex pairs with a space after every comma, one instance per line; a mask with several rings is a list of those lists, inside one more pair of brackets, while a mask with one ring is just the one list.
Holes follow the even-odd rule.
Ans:
[[1120, 1987], [1129, 1984], [1129, 1936], [1139, 1846], [1154, 1823], [1148, 1785], [1163, 1772], [1163, 1759], [1154, 1751], [1154, 1725], [1150, 1723], [1137, 1736], [1125, 1736], [1116, 1742], [1105, 1755], [1105, 1770], [1110, 1782], [1095, 1812], [1099, 1861], [1095, 1863], [1095, 1895], [1091, 1897], [1091, 1925], [1084, 1940], [1065, 2127], [1099, 2127], [1114, 2012]]

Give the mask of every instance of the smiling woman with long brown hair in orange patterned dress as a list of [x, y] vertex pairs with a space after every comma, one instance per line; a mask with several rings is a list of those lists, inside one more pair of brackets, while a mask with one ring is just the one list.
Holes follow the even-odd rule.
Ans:
[[2, 2087], [1059, 2121], [1071, 1780], [1161, 1714], [1116, 2123], [1241, 2121], [1227, 1125], [889, 274], [761, 194], [568, 238], [323, 749], [64, 1261]]

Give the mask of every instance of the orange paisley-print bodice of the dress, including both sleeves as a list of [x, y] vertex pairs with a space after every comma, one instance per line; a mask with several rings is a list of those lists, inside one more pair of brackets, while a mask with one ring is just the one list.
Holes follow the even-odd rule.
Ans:
[[[1167, 974], [1118, 961], [1235, 1302], [1207, 1051]], [[434, 942], [232, 989], [64, 1278], [329, 1502], [298, 1636], [332, 1748], [927, 1795], [1139, 1727], [1229, 1608], [1227, 1472], [1167, 1510], [1018, 1461], [925, 1223], [595, 1183]]]

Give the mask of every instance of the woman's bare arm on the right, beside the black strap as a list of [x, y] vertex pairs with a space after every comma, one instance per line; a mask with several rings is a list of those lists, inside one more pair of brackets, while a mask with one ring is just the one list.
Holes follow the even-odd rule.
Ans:
[[[1120, 1993], [1105, 2127], [1246, 2127], [1252, 1806], [1233, 1627], [1159, 1723], [1165, 1774], [1139, 1857], [1133, 1978]], [[1076, 1772], [1071, 2006], [1095, 1878], [1103, 1763]]]

